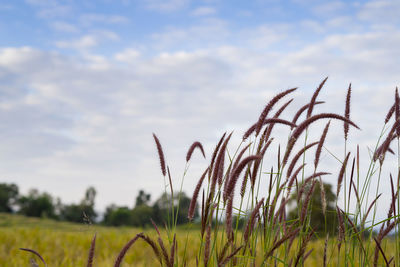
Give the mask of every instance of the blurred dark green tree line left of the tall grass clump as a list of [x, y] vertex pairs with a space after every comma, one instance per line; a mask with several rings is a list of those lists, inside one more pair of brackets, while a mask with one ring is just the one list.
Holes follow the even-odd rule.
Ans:
[[173, 197], [164, 193], [152, 204], [151, 195], [140, 190], [132, 207], [111, 204], [99, 219], [99, 213], [94, 208], [95, 198], [96, 189], [89, 187], [80, 202], [64, 204], [60, 198], [37, 189], [21, 195], [16, 184], [0, 183], [0, 212], [76, 223], [146, 227], [153, 220], [156, 224], [163, 224], [171, 216], [170, 210], [174, 205], [177, 224], [183, 224], [187, 222], [190, 204], [190, 198], [183, 192]]

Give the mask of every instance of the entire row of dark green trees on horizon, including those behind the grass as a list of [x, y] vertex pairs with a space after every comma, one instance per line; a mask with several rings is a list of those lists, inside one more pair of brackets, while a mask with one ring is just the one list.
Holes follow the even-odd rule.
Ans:
[[[298, 198], [298, 188], [294, 190], [289, 199], [289, 204]], [[337, 232], [338, 222], [336, 220], [336, 195], [333, 193], [332, 186], [325, 184], [326, 217], [323, 215], [321, 207], [321, 191], [319, 182], [311, 196], [311, 221], [310, 227], [315, 232]], [[307, 195], [308, 187], [305, 188]], [[59, 198], [54, 198], [50, 194], [40, 193], [36, 189], [29, 191], [27, 195], [20, 195], [18, 186], [15, 184], [0, 183], [0, 212], [17, 213], [31, 217], [51, 218], [60, 221], [76, 223], [99, 223], [107, 226], [135, 226], [146, 227], [151, 225], [151, 221], [163, 225], [172, 218], [172, 206], [174, 208], [174, 219], [177, 224], [188, 222], [187, 214], [191, 199], [184, 193], [170, 194], [163, 193], [153, 203], [151, 195], [144, 190], [140, 190], [136, 196], [135, 204], [132, 207], [117, 206], [111, 204], [101, 219], [94, 209], [96, 190], [94, 187], [87, 188], [85, 195], [79, 203], [63, 204]], [[179, 205], [178, 205], [179, 203]], [[198, 206], [198, 205], [196, 205]], [[198, 218], [199, 211], [196, 208], [194, 218]], [[288, 222], [295, 223], [299, 216], [299, 209], [293, 206], [288, 210]], [[246, 222], [241, 218], [240, 226]]]

